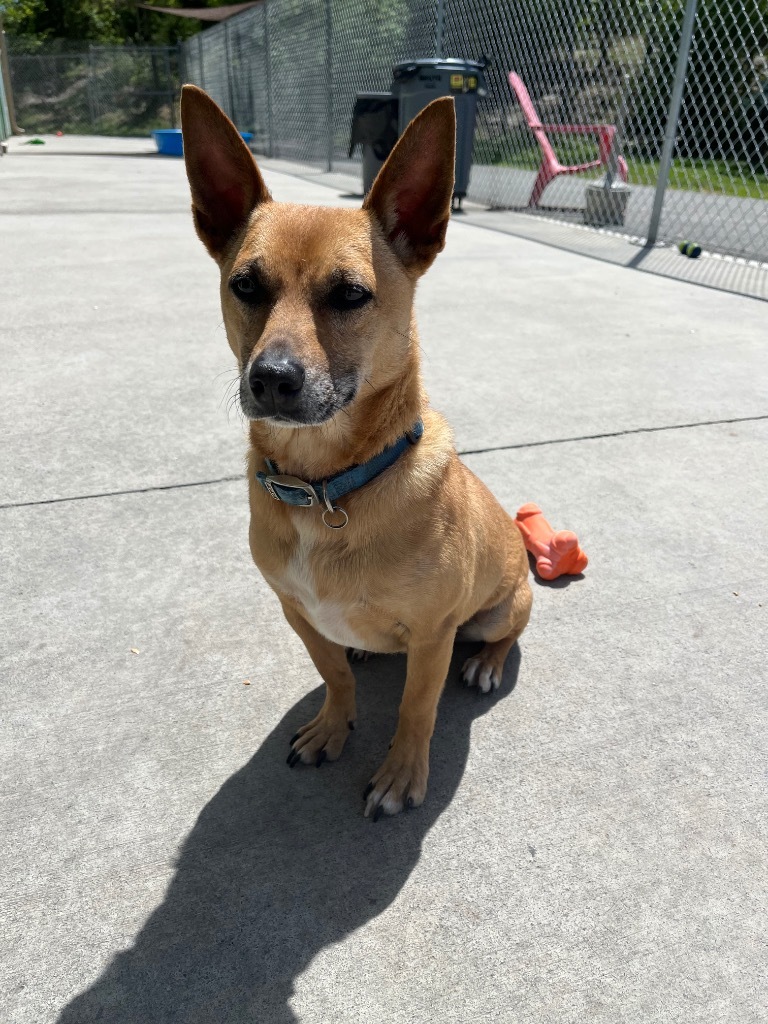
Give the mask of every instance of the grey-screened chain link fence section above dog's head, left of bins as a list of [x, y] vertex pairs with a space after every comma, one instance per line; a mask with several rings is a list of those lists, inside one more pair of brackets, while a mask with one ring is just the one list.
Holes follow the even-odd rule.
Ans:
[[182, 76], [253, 132], [257, 153], [339, 170], [356, 93], [432, 53], [435, 26], [433, 0], [265, 0], [187, 40]]

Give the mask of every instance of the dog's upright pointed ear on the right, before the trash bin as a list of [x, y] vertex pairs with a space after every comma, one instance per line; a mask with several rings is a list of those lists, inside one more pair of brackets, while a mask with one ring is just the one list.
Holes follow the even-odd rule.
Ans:
[[407, 267], [423, 273], [445, 244], [456, 160], [456, 113], [433, 99], [411, 122], [362, 204]]

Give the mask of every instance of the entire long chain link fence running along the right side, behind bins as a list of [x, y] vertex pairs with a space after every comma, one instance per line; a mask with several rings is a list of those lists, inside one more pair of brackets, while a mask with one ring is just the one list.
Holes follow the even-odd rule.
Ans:
[[[630, 186], [622, 229], [645, 239], [685, 8], [686, 0], [264, 0], [188, 40], [182, 74], [254, 132], [256, 152], [345, 170], [356, 93], [387, 90], [399, 60], [486, 55], [469, 198], [583, 221], [586, 184], [605, 172], [599, 134], [585, 126], [621, 118]], [[559, 174], [536, 204], [543, 153], [510, 71], [541, 121], [557, 126], [548, 137], [559, 163], [598, 165]], [[681, 74], [653, 233], [768, 261], [768, 0], [698, 0]]]

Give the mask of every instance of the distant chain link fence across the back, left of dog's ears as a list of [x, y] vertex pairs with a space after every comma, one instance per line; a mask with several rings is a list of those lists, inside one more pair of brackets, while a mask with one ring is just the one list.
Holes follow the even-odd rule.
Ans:
[[28, 134], [145, 135], [176, 124], [175, 46], [9, 39], [8, 50], [16, 121]]

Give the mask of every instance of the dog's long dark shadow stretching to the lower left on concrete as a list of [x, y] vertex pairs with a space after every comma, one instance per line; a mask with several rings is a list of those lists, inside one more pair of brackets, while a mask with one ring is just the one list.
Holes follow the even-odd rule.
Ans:
[[58, 1024], [293, 1024], [294, 979], [397, 896], [459, 785], [472, 721], [514, 688], [517, 646], [498, 693], [460, 682], [477, 647], [457, 644], [421, 808], [377, 823], [362, 817], [404, 680], [404, 657], [377, 657], [355, 667], [357, 729], [341, 760], [286, 766], [290, 736], [322, 703], [315, 689], [203, 809], [164, 902]]

